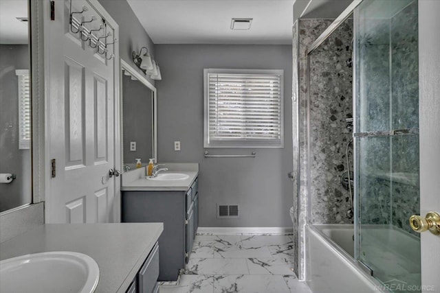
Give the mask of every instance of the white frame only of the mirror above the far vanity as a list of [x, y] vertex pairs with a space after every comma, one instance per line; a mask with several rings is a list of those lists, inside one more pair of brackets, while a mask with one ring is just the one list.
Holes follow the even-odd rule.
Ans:
[[[121, 59], [121, 65], [120, 65], [120, 137], [121, 137], [121, 148], [120, 148], [120, 156], [121, 156], [121, 166], [120, 170], [122, 173], [124, 173], [124, 87], [122, 86], [122, 78], [123, 78], [123, 71], [128, 71], [132, 76], [134, 76], [139, 82], [144, 84], [148, 89], [150, 89], [153, 92], [153, 98], [151, 99], [151, 108], [153, 109], [153, 117], [151, 117], [151, 124], [153, 126], [153, 135], [151, 139], [153, 139], [153, 156], [152, 158], [157, 159], [157, 90], [151, 82], [148, 82], [148, 80], [137, 70], [135, 70], [129, 63], [125, 62]], [[146, 162], [144, 162], [145, 164]]]

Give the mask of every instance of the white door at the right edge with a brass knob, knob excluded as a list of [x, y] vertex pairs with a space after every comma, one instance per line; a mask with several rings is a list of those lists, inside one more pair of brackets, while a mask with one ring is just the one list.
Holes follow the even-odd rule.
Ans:
[[[420, 215], [440, 213], [440, 1], [419, 1]], [[440, 235], [421, 233], [423, 292], [440, 292]]]

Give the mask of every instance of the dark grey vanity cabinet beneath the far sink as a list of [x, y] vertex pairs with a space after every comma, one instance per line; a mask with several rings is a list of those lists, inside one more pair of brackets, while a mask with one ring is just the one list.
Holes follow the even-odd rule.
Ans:
[[199, 218], [198, 180], [187, 191], [122, 191], [122, 222], [163, 222], [159, 281], [176, 281], [188, 262]]

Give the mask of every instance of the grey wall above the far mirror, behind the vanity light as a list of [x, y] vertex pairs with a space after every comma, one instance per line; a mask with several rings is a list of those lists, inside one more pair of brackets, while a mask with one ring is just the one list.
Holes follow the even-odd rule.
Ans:
[[[126, 0], [98, 1], [119, 25], [118, 43], [120, 58], [143, 74], [143, 72], [134, 65], [131, 53], [136, 51], [137, 54], [139, 54], [140, 48], [147, 47], [150, 54], [154, 56], [154, 44], [150, 36], [145, 32], [144, 27], [142, 27]], [[142, 50], [142, 53], [144, 52], [145, 49]], [[151, 82], [151, 84], [155, 84], [155, 81], [150, 78], [150, 75], [146, 75], [146, 79]]]

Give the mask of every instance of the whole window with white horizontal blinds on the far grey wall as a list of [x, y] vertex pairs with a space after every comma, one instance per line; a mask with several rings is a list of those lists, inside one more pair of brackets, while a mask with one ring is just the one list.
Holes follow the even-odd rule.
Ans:
[[284, 148], [283, 70], [203, 73], [204, 148]]

